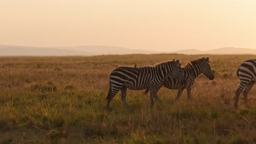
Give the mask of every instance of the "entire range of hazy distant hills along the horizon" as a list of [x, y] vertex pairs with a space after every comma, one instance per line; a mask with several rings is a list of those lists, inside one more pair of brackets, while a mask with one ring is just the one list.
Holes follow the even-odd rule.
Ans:
[[253, 54], [256, 55], [256, 50], [243, 49], [235, 47], [223, 47], [213, 50], [196, 50], [187, 49], [179, 51], [147, 51], [133, 50], [126, 47], [117, 46], [59, 46], [59, 47], [32, 47], [32, 46], [10, 46], [0, 45], [0, 56], [95, 56], [95, 55], [127, 55], [127, 54], [154, 54], [154, 53], [179, 53], [185, 55], [238, 55], [238, 54]]

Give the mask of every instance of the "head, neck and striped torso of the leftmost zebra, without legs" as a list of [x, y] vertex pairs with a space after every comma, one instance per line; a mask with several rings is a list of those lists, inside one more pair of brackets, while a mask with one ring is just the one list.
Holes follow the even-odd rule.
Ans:
[[168, 76], [176, 77], [181, 80], [182, 75], [179, 74], [181, 66], [179, 61], [167, 61], [157, 63], [148, 67], [118, 67], [112, 71], [109, 80], [112, 86], [127, 87], [129, 89], [145, 89], [150, 84], [159, 85], [163, 79]]

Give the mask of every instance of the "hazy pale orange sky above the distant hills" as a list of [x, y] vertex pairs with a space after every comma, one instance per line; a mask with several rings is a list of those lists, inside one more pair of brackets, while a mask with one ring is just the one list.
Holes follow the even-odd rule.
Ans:
[[256, 1], [0, 0], [0, 45], [256, 49]]

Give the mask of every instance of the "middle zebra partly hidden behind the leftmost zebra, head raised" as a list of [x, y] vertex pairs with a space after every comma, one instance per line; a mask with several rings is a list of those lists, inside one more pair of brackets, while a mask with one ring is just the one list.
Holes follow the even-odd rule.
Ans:
[[[165, 86], [169, 89], [179, 89], [175, 101], [181, 97], [181, 94], [184, 89], [187, 89], [188, 99], [191, 98], [191, 87], [193, 86], [195, 79], [200, 74], [204, 74], [208, 77], [208, 79], [213, 80], [214, 75], [211, 70], [209, 58], [197, 58], [194, 61], [190, 61], [187, 63], [185, 67], [182, 68], [182, 75], [183, 75], [183, 83], [179, 82], [175, 77], [169, 76], [167, 79], [163, 80], [156, 89], [159, 89], [162, 86]], [[146, 89], [145, 94], [147, 94], [149, 89]]]

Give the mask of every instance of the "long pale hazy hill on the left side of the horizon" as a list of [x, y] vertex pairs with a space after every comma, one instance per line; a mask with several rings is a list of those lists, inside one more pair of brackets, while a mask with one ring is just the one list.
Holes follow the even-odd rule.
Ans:
[[116, 46], [62, 46], [32, 47], [0, 45], [0, 56], [94, 56], [94, 55], [126, 55], [126, 54], [166, 53], [146, 50], [133, 50]]

